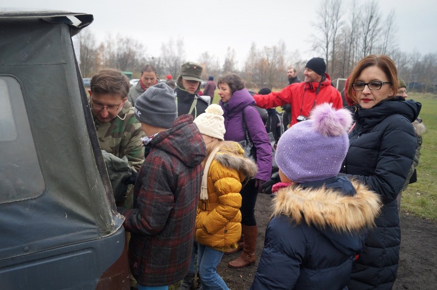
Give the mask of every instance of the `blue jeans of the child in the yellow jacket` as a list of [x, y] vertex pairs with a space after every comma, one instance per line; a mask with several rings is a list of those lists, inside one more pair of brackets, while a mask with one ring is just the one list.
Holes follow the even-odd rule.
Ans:
[[217, 265], [222, 260], [223, 252], [200, 243], [197, 247], [197, 269], [202, 280], [202, 290], [229, 290], [217, 273]]

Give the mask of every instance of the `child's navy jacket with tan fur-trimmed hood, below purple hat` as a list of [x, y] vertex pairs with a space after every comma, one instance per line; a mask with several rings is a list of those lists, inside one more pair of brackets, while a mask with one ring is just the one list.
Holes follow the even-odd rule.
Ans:
[[378, 194], [344, 176], [281, 189], [250, 289], [345, 288], [379, 208]]

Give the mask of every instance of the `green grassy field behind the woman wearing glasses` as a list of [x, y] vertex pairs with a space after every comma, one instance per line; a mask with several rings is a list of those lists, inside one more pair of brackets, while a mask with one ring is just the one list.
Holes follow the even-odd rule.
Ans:
[[[420, 117], [427, 132], [417, 168], [418, 181], [402, 193], [401, 210], [437, 221], [437, 95], [409, 93], [408, 97], [422, 103]], [[219, 100], [215, 90], [213, 103]]]

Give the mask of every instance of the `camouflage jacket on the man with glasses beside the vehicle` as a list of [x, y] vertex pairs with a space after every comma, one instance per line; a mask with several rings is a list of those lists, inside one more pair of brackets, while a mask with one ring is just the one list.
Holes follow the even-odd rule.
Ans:
[[125, 101], [118, 117], [107, 123], [102, 123], [94, 117], [100, 147], [118, 158], [126, 156], [130, 167], [139, 171], [144, 161], [141, 138], [145, 135], [129, 101]]

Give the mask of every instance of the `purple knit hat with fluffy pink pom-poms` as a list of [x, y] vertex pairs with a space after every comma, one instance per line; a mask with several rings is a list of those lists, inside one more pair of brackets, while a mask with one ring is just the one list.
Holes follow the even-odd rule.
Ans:
[[293, 125], [277, 142], [277, 166], [297, 183], [325, 180], [339, 173], [349, 149], [349, 110], [316, 106], [309, 120]]

